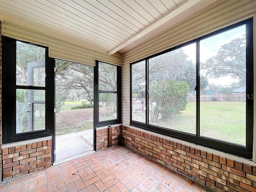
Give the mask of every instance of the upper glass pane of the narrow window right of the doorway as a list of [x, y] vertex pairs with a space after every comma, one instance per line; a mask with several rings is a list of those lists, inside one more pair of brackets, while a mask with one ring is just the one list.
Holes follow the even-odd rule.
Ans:
[[117, 66], [99, 62], [99, 90], [116, 91]]

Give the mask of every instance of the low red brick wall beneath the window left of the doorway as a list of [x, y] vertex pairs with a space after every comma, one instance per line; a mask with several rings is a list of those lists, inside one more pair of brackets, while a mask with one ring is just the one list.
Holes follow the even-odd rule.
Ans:
[[3, 178], [36, 172], [51, 166], [52, 140], [2, 149]]

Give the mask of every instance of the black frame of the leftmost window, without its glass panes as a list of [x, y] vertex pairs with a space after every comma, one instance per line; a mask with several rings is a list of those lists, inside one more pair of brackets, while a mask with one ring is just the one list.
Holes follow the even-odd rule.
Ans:
[[[16, 85], [16, 40], [2, 36], [2, 143], [52, 136], [54, 129], [54, 58], [45, 52], [45, 87]], [[16, 89], [45, 90], [45, 129], [16, 134]]]

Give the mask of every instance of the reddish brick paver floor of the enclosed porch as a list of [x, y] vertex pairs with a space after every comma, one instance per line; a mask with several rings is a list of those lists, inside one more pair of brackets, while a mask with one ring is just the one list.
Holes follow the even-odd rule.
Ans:
[[1, 192], [210, 192], [124, 146], [2, 182]]

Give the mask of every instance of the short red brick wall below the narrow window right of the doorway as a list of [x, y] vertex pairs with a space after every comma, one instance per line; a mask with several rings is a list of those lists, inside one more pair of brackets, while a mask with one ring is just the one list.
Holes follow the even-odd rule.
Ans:
[[[121, 140], [122, 126], [112, 127], [112, 146]], [[96, 150], [108, 148], [108, 128], [96, 130]]]

